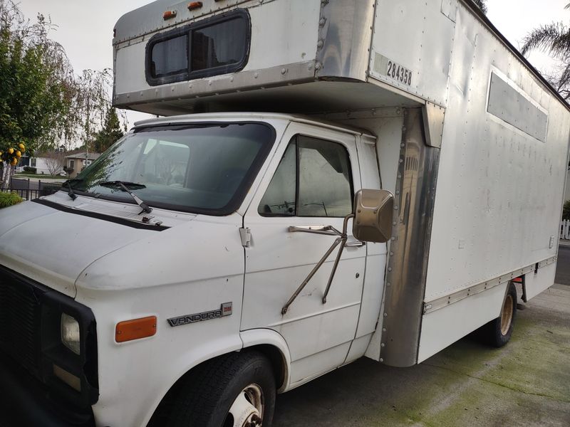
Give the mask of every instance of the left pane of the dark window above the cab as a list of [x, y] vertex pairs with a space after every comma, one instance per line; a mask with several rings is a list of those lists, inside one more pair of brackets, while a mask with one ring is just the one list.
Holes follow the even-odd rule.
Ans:
[[188, 36], [160, 41], [152, 46], [152, 77], [185, 73], [188, 68]]

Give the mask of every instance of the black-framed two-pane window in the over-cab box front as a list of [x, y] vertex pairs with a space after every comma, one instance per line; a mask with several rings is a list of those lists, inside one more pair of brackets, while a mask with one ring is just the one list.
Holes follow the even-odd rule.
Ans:
[[239, 71], [247, 63], [250, 39], [249, 14], [242, 9], [157, 34], [147, 44], [147, 82], [163, 85]]

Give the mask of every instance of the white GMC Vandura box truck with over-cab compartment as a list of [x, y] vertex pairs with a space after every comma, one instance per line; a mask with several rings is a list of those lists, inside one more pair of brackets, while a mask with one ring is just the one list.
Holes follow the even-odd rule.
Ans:
[[3, 416], [267, 427], [552, 285], [569, 106], [472, 1], [159, 0], [113, 48], [165, 117], [0, 212]]

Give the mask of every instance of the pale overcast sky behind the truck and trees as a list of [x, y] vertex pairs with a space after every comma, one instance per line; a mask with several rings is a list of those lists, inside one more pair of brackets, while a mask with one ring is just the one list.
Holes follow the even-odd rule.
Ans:
[[[408, 0], [418, 1], [418, 0]], [[76, 74], [91, 68], [113, 67], [113, 27], [125, 12], [150, 3], [150, 0], [21, 0], [24, 16], [35, 19], [38, 13], [49, 16], [57, 28], [50, 37], [61, 43]], [[487, 16], [511, 43], [519, 48], [522, 38], [533, 28], [553, 21], [570, 23], [570, 0], [487, 0]], [[172, 3], [175, 3], [172, 0]], [[552, 66], [542, 53], [532, 53], [530, 61], [539, 70]], [[130, 123], [150, 117], [130, 112]]]

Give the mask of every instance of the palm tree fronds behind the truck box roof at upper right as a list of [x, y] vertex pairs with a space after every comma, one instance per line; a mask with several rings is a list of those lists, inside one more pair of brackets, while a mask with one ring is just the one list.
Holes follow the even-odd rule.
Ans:
[[[564, 9], [570, 9], [570, 3], [566, 4]], [[539, 49], [561, 60], [563, 65], [557, 75], [545, 77], [564, 99], [570, 100], [570, 27], [562, 22], [540, 26], [528, 33], [523, 43], [521, 49], [523, 55]]]

